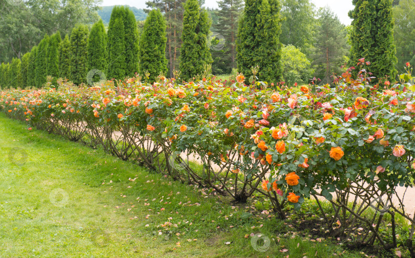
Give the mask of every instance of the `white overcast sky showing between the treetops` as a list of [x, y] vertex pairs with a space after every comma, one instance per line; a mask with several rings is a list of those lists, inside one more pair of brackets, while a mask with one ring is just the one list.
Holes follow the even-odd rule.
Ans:
[[[351, 23], [351, 19], [347, 16], [349, 10], [353, 9], [353, 5], [351, 4], [351, 0], [311, 0], [317, 8], [329, 6], [331, 10], [341, 20], [341, 22], [345, 25], [349, 25]], [[134, 6], [139, 9], [146, 8], [146, 0], [103, 0], [102, 6], [112, 6], [112, 5], [129, 5]], [[218, 4], [216, 0], [205, 0], [205, 7], [210, 8], [217, 8]]]

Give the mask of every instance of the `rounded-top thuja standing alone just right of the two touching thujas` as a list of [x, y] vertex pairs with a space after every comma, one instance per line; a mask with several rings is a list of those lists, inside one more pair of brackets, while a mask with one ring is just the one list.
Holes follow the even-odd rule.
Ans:
[[167, 72], [167, 59], [165, 58], [165, 37], [164, 17], [159, 10], [152, 10], [144, 23], [140, 39], [139, 51], [139, 73], [148, 71], [152, 78], [160, 73]]

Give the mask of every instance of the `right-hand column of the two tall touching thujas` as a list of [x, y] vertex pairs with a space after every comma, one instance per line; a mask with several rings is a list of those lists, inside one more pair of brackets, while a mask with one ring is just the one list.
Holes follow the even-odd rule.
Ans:
[[138, 72], [138, 26], [133, 11], [127, 7], [124, 12], [126, 76], [134, 77]]

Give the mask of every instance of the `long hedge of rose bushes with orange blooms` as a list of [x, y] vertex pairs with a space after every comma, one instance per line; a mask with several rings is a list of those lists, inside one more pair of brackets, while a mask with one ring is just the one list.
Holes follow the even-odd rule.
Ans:
[[[60, 83], [58, 90], [2, 92], [0, 108], [71, 140], [89, 136], [124, 160], [236, 201], [260, 192], [283, 218], [285, 205], [298, 209], [311, 196], [331, 201], [333, 192], [356, 194], [350, 190], [354, 182], [383, 193], [412, 184], [413, 87], [398, 83], [379, 91], [379, 85], [350, 77], [345, 73], [336, 88], [323, 85], [313, 92], [306, 86], [244, 85], [242, 75], [231, 87], [164, 77], [153, 84], [130, 78], [92, 88]], [[178, 153], [196, 154], [202, 168]], [[413, 222], [404, 207], [397, 211]]]

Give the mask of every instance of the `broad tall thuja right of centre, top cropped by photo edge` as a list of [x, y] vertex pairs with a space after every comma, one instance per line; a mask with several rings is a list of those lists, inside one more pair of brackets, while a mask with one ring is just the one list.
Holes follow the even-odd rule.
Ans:
[[280, 4], [278, 0], [246, 0], [239, 21], [237, 63], [246, 78], [259, 67], [258, 79], [278, 82], [282, 79]]

